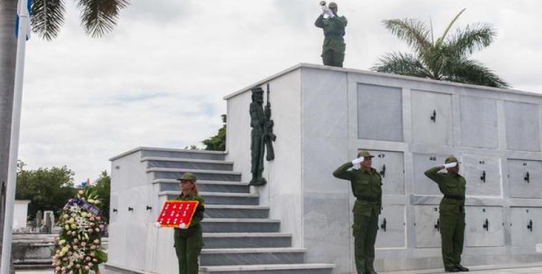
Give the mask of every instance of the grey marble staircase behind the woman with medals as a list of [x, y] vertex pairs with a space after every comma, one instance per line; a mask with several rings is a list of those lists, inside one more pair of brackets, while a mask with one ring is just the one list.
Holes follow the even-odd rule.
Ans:
[[270, 219], [270, 208], [259, 205], [259, 195], [241, 182], [233, 162], [224, 154], [198, 151], [145, 151], [152, 184], [158, 195], [179, 195], [176, 178], [186, 172], [198, 177], [205, 199], [204, 248], [201, 274], [329, 274], [333, 264], [307, 264], [303, 248], [292, 247], [292, 235], [281, 232], [281, 222]]

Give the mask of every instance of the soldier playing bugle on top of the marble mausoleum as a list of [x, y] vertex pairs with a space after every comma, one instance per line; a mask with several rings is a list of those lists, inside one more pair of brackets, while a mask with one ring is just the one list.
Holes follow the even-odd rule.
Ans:
[[[324, 29], [324, 45], [322, 46], [322, 60], [326, 66], [342, 66], [344, 61], [344, 28], [346, 27], [346, 17], [337, 15], [337, 4], [329, 3], [329, 8], [322, 2], [322, 14], [318, 16], [314, 25]], [[327, 15], [325, 18], [324, 15]]]

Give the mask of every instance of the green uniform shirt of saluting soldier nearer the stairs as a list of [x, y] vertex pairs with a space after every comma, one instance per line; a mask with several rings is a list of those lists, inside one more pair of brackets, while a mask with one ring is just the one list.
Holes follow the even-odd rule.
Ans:
[[373, 168], [370, 171], [364, 168], [354, 170], [351, 169], [352, 166], [352, 162], [339, 166], [337, 170], [333, 171], [333, 176], [349, 180], [355, 197], [368, 197], [376, 201], [373, 203], [357, 199], [354, 203], [353, 213], [370, 216], [371, 211], [374, 211], [375, 214], [380, 214], [382, 207], [382, 179], [380, 174]]

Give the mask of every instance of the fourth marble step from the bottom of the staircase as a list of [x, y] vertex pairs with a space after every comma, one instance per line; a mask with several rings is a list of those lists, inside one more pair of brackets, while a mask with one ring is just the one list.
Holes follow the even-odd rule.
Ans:
[[271, 219], [203, 219], [204, 233], [279, 232], [281, 222]]

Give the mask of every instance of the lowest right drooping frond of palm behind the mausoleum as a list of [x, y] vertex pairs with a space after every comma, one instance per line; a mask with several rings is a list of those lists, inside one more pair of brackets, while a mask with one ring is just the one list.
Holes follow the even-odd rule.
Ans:
[[493, 86], [495, 88], [508, 88], [508, 83], [496, 75], [491, 69], [488, 69], [482, 63], [467, 58], [454, 60], [454, 64], [449, 66], [447, 80], [451, 82], [460, 82], [475, 84], [481, 86]]

